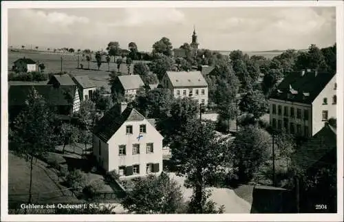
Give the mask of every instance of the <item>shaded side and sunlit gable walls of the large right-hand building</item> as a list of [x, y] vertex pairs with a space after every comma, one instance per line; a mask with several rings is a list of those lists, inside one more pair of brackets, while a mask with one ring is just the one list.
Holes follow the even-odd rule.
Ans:
[[270, 125], [288, 133], [311, 137], [325, 121], [336, 118], [336, 76], [313, 100], [312, 104], [270, 98]]

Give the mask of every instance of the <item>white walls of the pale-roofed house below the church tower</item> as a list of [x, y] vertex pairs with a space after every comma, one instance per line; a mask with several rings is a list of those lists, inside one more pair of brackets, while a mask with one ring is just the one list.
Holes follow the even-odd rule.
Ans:
[[175, 98], [193, 98], [198, 104], [208, 104], [208, 87], [173, 87], [167, 75], [162, 78], [160, 85], [170, 89]]

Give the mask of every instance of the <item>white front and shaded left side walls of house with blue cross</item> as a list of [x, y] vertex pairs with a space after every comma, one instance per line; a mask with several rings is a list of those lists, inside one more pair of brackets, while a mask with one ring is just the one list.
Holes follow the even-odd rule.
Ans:
[[[140, 133], [140, 125], [145, 125], [146, 133]], [[127, 126], [131, 126], [132, 133], [127, 133]], [[140, 140], [138, 140], [138, 135], [142, 135]], [[94, 135], [94, 155], [100, 166], [105, 170], [116, 170], [121, 176], [125, 176], [125, 167], [127, 166], [133, 166], [133, 175], [131, 175], [133, 177], [147, 175], [147, 164], [149, 164], [149, 173], [161, 173], [162, 139], [162, 135], [147, 119], [135, 122], [127, 121], [120, 126], [108, 142], [103, 142]], [[138, 153], [136, 153], [137, 150], [133, 146], [139, 146]], [[153, 152], [147, 146], [153, 146]], [[122, 149], [124, 147], [125, 152]], [[151, 172], [153, 171], [153, 164], [155, 166], [158, 164], [157, 172]]]

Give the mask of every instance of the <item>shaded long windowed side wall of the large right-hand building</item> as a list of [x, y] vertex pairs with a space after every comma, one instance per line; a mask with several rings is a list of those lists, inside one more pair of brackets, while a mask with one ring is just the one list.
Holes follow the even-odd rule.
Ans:
[[[272, 113], [272, 104], [276, 104], [276, 114]], [[290, 133], [290, 122], [294, 123], [294, 132], [297, 133], [297, 124], [301, 125], [301, 135], [305, 135], [304, 126], [307, 126], [309, 135], [311, 136], [312, 130], [312, 106], [310, 104], [303, 104], [299, 102], [290, 102], [285, 100], [270, 99], [270, 125], [272, 126], [272, 119], [276, 120], [276, 128], [278, 127], [278, 120], [282, 122], [284, 127], [283, 118], [288, 118], [288, 133]], [[282, 113], [278, 115], [278, 106], [281, 105]], [[284, 115], [284, 107], [288, 107], [288, 116]], [[294, 118], [290, 116], [290, 108], [294, 107]], [[301, 119], [297, 118], [297, 109], [301, 109]], [[304, 110], [308, 110], [308, 120], [304, 120]]]

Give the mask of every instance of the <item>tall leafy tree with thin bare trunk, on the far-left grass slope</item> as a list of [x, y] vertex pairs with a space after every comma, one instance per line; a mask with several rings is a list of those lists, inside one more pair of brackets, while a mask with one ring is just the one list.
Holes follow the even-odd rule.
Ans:
[[28, 202], [32, 203], [32, 169], [34, 157], [50, 151], [52, 142], [52, 114], [36, 89], [28, 96], [25, 108], [14, 120], [9, 147], [16, 155], [30, 162], [30, 186]]

